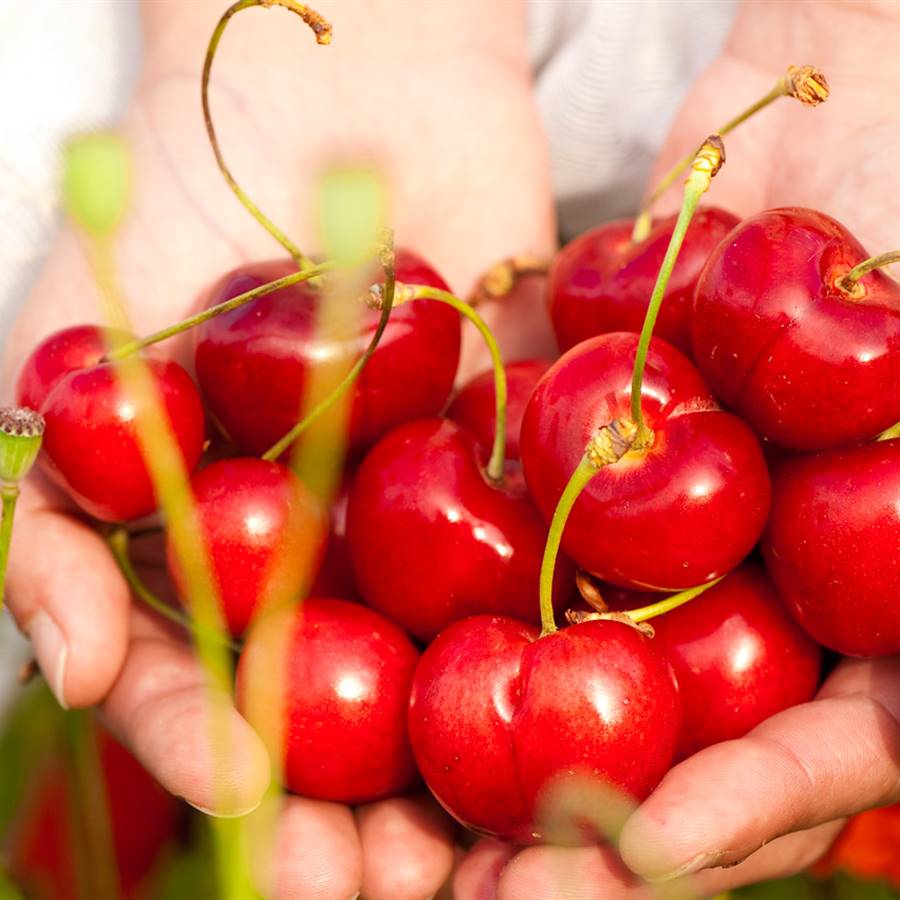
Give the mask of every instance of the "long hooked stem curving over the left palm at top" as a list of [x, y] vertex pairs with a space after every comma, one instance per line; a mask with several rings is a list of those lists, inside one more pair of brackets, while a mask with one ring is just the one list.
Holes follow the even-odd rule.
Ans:
[[222, 150], [219, 147], [219, 140], [213, 126], [212, 113], [209, 109], [209, 76], [212, 71], [212, 64], [216, 56], [216, 51], [219, 47], [219, 41], [232, 17], [241, 10], [249, 9], [252, 6], [280, 6], [283, 9], [298, 15], [312, 29], [317, 44], [329, 44], [331, 42], [331, 25], [329, 25], [315, 10], [310, 9], [302, 3], [296, 2], [296, 0], [239, 0], [239, 2], [225, 10], [212, 33], [212, 37], [209, 39], [209, 45], [206, 48], [206, 57], [203, 61], [203, 76], [200, 82], [201, 99], [203, 102], [203, 120], [206, 123], [206, 133], [209, 135], [209, 142], [212, 146], [213, 153], [215, 154], [216, 163], [219, 166], [222, 177], [250, 215], [253, 216], [253, 218], [256, 219], [256, 221], [259, 222], [259, 224], [262, 225], [262, 227], [265, 228], [265, 230], [268, 231], [288, 253], [290, 253], [291, 257], [297, 263], [298, 268], [301, 271], [305, 271], [313, 267], [313, 262], [304, 256], [296, 244], [294, 244], [294, 242], [262, 212], [262, 210], [250, 199], [244, 189], [237, 183], [234, 175], [231, 174], [231, 170], [228, 168], [224, 156], [222, 156]]

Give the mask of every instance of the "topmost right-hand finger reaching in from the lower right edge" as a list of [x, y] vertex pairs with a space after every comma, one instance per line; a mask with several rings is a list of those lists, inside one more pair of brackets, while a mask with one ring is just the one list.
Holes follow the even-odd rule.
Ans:
[[735, 863], [900, 798], [900, 658], [844, 663], [819, 697], [676, 766], [625, 825], [628, 866], [658, 879]]

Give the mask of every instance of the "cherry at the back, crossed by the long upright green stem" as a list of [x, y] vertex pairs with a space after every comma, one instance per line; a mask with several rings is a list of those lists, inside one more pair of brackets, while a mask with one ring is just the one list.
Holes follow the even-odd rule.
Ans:
[[[547, 297], [560, 350], [598, 334], [641, 330], [677, 218], [656, 220], [650, 234], [636, 244], [631, 242], [633, 220], [608, 222], [557, 253]], [[709, 254], [739, 221], [723, 209], [700, 207], [685, 235], [655, 329], [657, 337], [684, 353], [691, 349], [697, 278]]]

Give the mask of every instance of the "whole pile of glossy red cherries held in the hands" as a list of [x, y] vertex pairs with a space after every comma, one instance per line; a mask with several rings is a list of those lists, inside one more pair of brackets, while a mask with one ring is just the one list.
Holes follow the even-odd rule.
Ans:
[[[325, 340], [321, 284], [268, 290], [295, 262], [249, 264], [211, 288], [209, 309], [256, 294], [194, 328], [193, 372], [138, 342], [245, 639], [238, 704], [279, 720], [260, 727], [287, 789], [354, 804], [421, 773], [471, 829], [553, 839], [573, 785], [640, 800], [680, 759], [811, 699], [820, 645], [900, 652], [900, 288], [883, 259], [857, 268], [866, 252], [823, 213], [701, 208], [635, 393], [637, 331], [686, 221], [575, 239], [548, 281], [565, 352], [456, 393], [453, 298], [397, 251], [331, 502], [282, 439], [376, 310]], [[130, 341], [68, 328], [18, 382], [46, 420], [45, 472], [100, 522], [157, 507], [146, 411], [118, 373]], [[212, 434], [227, 442], [204, 456]], [[168, 565], [189, 609], [171, 547]]]

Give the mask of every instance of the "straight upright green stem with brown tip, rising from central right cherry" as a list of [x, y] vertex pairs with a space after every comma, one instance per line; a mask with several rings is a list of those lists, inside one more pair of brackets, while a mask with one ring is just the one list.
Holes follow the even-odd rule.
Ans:
[[656, 276], [656, 284], [653, 286], [653, 293], [650, 295], [650, 304], [644, 317], [637, 353], [634, 358], [634, 371], [631, 377], [631, 418], [638, 427], [639, 443], [647, 443], [650, 436], [649, 430], [644, 425], [643, 412], [641, 410], [641, 390], [644, 384], [644, 367], [647, 364], [647, 352], [650, 349], [650, 339], [653, 337], [656, 318], [659, 315], [659, 309], [662, 305], [666, 288], [669, 285], [672, 270], [675, 268], [675, 261], [678, 259], [678, 253], [681, 250], [681, 245], [684, 243], [684, 236], [697, 210], [697, 205], [700, 203], [700, 198], [709, 190], [713, 176], [719, 171], [724, 162], [725, 147], [722, 144], [722, 139], [716, 134], [710, 135], [694, 157], [690, 174], [684, 182], [684, 199], [682, 200], [681, 210], [678, 213], [675, 230], [672, 232], [672, 237], [669, 240], [669, 246], [666, 249], [666, 255], [660, 266], [659, 274]]

